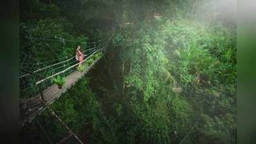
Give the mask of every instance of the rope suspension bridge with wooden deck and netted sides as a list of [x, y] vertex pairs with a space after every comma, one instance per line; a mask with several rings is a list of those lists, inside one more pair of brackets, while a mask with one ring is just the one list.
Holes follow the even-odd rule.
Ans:
[[[105, 54], [105, 47], [109, 44], [112, 36], [105, 39], [101, 38], [95, 42], [67, 40], [57, 37], [36, 38], [21, 36], [23, 38], [23, 47], [21, 47], [20, 51], [19, 76], [20, 127], [32, 122], [37, 115], [40, 115], [44, 109], [48, 108], [52, 111], [51, 114], [59, 120], [60, 124], [68, 130], [69, 136], [64, 140], [74, 136], [79, 143], [82, 143], [78, 136], [53, 112], [50, 104], [89, 72], [93, 65], [102, 58]], [[75, 58], [77, 45], [81, 46], [81, 51], [86, 56], [80, 62]], [[78, 70], [79, 65], [82, 65], [82, 70]], [[53, 83], [53, 78], [58, 76], [65, 77], [65, 83], [62, 88]]]

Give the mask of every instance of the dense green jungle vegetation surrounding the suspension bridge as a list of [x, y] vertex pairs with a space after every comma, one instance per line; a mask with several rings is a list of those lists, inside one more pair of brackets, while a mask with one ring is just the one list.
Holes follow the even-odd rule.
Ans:
[[[62, 49], [24, 36], [93, 42], [114, 33], [93, 69], [51, 104], [84, 143], [236, 143], [236, 22], [214, 2], [24, 0], [21, 49], [53, 60], [77, 42]], [[22, 143], [49, 143], [37, 122], [53, 143], [68, 135], [46, 109], [21, 129]]]

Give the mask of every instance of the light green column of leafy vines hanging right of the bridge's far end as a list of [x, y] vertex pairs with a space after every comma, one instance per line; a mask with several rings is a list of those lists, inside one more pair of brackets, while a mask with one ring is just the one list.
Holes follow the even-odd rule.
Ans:
[[160, 38], [161, 33], [147, 33], [154, 31], [154, 28], [154, 26], [141, 28], [133, 40], [127, 37], [127, 33], [123, 35], [123, 38], [120, 38], [120, 35], [116, 38], [119, 44], [126, 43], [123, 44], [127, 45], [127, 48], [124, 48], [127, 49], [125, 59], [131, 60], [131, 72], [125, 76], [127, 86], [142, 91], [145, 101], [160, 89], [159, 77], [167, 65], [167, 58], [163, 51], [165, 42]]

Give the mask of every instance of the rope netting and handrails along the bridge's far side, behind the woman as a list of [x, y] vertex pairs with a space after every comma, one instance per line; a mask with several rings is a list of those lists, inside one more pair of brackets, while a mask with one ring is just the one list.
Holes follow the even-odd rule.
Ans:
[[93, 55], [102, 52], [107, 40], [96, 42], [67, 40], [64, 38], [23, 38], [20, 51], [20, 97], [30, 98], [41, 90], [53, 85], [53, 77], [67, 77], [80, 64], [75, 58], [75, 50], [80, 45], [85, 61], [93, 60]]

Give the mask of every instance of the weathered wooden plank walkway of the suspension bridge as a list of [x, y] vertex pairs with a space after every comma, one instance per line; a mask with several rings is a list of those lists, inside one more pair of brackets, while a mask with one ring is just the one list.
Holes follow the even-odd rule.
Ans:
[[[100, 57], [101, 58], [101, 57]], [[100, 60], [93, 61], [93, 63], [87, 67], [84, 72], [72, 72], [66, 77], [66, 83], [62, 86], [62, 89], [59, 89], [57, 84], [53, 84], [52, 86], [43, 90], [42, 93], [44, 95], [44, 100], [48, 106], [52, 104], [55, 100], [57, 100], [62, 93], [65, 93], [73, 84], [75, 84], [80, 78], [82, 78], [89, 70], [93, 67], [93, 65]], [[31, 99], [21, 99], [20, 100], [20, 126], [22, 127], [26, 122], [31, 122], [35, 116], [40, 115], [42, 111], [44, 111], [45, 106], [42, 103], [40, 93]]]

